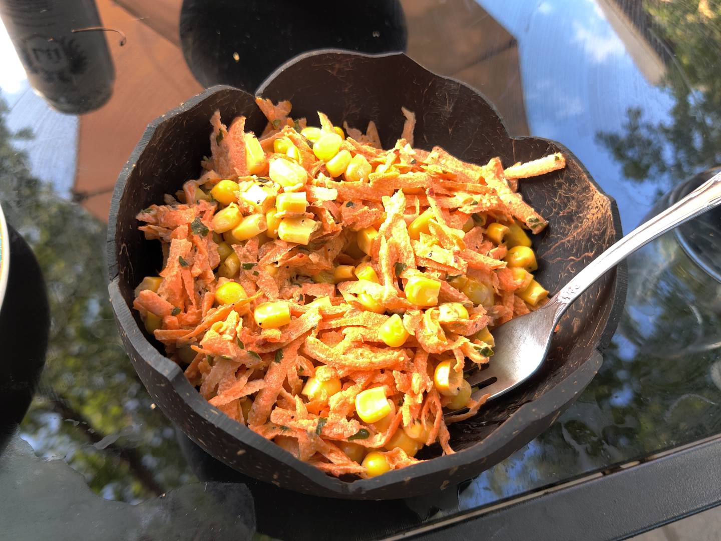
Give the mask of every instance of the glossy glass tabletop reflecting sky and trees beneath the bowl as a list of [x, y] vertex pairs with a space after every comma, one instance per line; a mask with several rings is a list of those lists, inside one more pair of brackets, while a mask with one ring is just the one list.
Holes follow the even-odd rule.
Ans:
[[567, 146], [616, 199], [625, 232], [720, 162], [716, 2], [297, 5], [0, 0], [0, 203], [40, 265], [50, 321], [41, 281], [22, 283], [29, 338], [2, 337], [3, 371], [30, 366], [49, 334], [24, 416], [27, 384], [0, 383], [22, 418], [4, 426], [0, 455], [12, 538], [62, 524], [78, 538], [99, 523], [158, 539], [384, 537], [721, 433], [719, 214], [629, 259], [599, 374], [548, 431], [459, 486], [386, 502], [302, 496], [229, 470], [167, 421], [120, 343], [106, 223], [147, 123], [204, 87], [252, 92], [313, 48], [405, 50], [483, 92], [510, 133]]

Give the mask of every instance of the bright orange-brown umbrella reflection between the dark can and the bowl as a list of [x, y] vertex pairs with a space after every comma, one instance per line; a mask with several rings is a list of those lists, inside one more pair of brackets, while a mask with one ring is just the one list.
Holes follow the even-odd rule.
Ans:
[[180, 0], [151, 2], [152, 14], [138, 14], [136, 4], [141, 5], [97, 0], [103, 25], [123, 30], [128, 41], [124, 47], [110, 48], [116, 71], [112, 97], [104, 107], [79, 118], [74, 197], [103, 221], [118, 173], [147, 124], [202, 90], [178, 46]]

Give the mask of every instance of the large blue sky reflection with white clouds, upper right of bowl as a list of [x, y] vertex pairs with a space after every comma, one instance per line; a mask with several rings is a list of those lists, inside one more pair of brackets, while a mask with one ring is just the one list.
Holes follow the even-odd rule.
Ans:
[[653, 204], [655, 182], [624, 181], [596, 131], [620, 133], [629, 107], [668, 120], [673, 101], [634, 65], [592, 0], [478, 0], [518, 40], [531, 134], [565, 144], [616, 198], [625, 232]]

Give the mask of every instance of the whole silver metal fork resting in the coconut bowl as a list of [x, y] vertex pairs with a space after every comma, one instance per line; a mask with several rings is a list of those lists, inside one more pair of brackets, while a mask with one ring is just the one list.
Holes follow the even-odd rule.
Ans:
[[488, 400], [492, 400], [525, 382], [546, 358], [561, 316], [583, 291], [647, 242], [720, 203], [721, 173], [718, 173], [609, 247], [543, 307], [497, 327], [493, 332], [495, 353], [489, 364], [484, 369], [469, 371], [468, 382], [472, 387], [481, 387], [472, 397], [490, 394]]

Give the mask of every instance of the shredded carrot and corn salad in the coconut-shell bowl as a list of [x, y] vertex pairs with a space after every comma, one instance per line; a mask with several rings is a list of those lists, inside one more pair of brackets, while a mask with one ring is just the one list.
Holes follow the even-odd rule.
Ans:
[[547, 221], [518, 179], [564, 157], [504, 169], [414, 149], [405, 109], [384, 150], [373, 122], [312, 127], [290, 102], [257, 105], [265, 131], [216, 112], [200, 178], [137, 216], [164, 255], [136, 289], [146, 329], [209, 403], [324, 472], [453, 453], [448, 423], [486, 399], [464, 370], [548, 293], [527, 234]]

